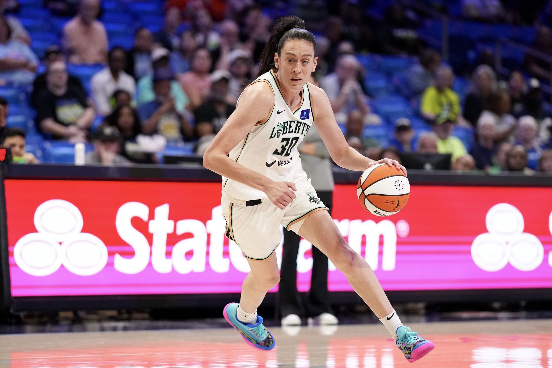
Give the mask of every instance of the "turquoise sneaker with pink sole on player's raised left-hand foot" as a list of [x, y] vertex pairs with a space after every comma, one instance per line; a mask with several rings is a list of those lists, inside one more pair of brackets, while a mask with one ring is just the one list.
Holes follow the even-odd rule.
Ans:
[[257, 323], [248, 324], [238, 320], [236, 316], [238, 303], [229, 303], [224, 307], [222, 314], [224, 319], [237, 329], [246, 343], [253, 348], [261, 350], [272, 350], [276, 345], [272, 334], [263, 326], [263, 317], [257, 315]]

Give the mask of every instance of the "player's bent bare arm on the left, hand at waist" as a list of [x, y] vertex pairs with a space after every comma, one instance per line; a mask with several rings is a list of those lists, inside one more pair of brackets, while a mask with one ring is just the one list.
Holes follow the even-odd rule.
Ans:
[[236, 147], [253, 126], [267, 119], [274, 105], [274, 94], [264, 82], [247, 87], [240, 98], [240, 104], [222, 126], [203, 156], [203, 166], [217, 174], [264, 191], [270, 201], [284, 209], [295, 198], [292, 188], [295, 184], [274, 182], [268, 177], [254, 172], [237, 163], [228, 154]]

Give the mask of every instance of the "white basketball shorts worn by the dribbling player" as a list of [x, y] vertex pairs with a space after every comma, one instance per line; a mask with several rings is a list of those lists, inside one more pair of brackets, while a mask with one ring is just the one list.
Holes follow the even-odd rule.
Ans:
[[269, 199], [244, 201], [232, 198], [222, 190], [222, 216], [226, 220], [226, 237], [251, 259], [266, 259], [282, 240], [280, 225], [295, 233], [305, 219], [328, 207], [318, 198], [310, 179], [295, 183], [296, 198], [280, 210]]

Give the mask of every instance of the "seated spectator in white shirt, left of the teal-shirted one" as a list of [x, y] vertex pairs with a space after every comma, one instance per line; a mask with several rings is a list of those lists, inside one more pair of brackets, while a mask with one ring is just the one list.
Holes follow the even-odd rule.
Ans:
[[126, 52], [123, 47], [113, 47], [109, 51], [108, 66], [92, 77], [92, 97], [98, 114], [105, 116], [111, 113], [113, 106], [109, 99], [116, 90], [125, 90], [131, 96], [136, 92], [134, 78], [124, 72], [125, 64]]

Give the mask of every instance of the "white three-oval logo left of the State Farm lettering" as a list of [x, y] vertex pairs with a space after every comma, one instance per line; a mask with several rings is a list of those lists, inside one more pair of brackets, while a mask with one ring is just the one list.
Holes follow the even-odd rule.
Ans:
[[61, 265], [89, 276], [107, 264], [107, 247], [93, 234], [81, 233], [81, 211], [71, 202], [52, 199], [37, 207], [36, 233], [26, 234], [13, 249], [15, 263], [28, 274], [46, 276]]

